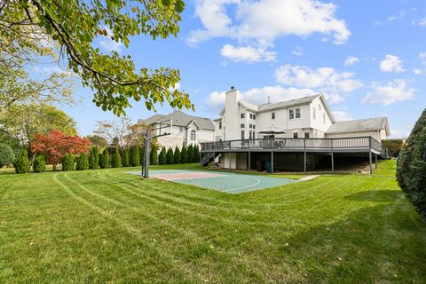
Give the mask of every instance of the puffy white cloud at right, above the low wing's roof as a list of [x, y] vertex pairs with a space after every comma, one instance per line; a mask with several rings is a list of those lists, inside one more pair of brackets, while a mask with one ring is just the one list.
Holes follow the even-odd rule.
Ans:
[[373, 83], [373, 91], [367, 93], [367, 96], [361, 100], [366, 104], [390, 104], [407, 99], [413, 99], [416, 90], [407, 86], [406, 80], [397, 79], [386, 84]]

